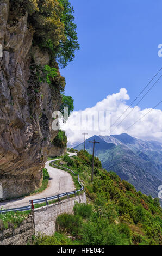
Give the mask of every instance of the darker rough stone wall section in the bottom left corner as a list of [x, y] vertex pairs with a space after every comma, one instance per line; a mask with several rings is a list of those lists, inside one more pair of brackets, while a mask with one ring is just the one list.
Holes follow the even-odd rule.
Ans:
[[17, 228], [10, 224], [8, 229], [0, 231], [0, 245], [27, 245], [34, 235], [33, 217], [30, 215]]

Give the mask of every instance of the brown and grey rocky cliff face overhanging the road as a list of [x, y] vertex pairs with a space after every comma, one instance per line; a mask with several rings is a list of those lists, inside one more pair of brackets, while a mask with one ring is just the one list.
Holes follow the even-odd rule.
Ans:
[[60, 106], [57, 83], [36, 78], [34, 65], [45, 66], [49, 55], [32, 46], [28, 14], [10, 22], [9, 1], [0, 1], [0, 185], [3, 199], [22, 196], [42, 181], [51, 140], [52, 112]]

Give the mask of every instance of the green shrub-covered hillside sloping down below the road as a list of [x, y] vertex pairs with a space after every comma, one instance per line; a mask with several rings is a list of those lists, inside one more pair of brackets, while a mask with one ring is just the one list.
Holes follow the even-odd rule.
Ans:
[[162, 215], [157, 198], [145, 196], [114, 172], [102, 169], [96, 157], [91, 184], [92, 156], [86, 151], [66, 160], [65, 166], [83, 181], [89, 204], [77, 204], [74, 216], [59, 216], [58, 233], [39, 237], [39, 244], [60, 244], [60, 234], [63, 245], [69, 245], [69, 235], [75, 237], [71, 245], [161, 245]]

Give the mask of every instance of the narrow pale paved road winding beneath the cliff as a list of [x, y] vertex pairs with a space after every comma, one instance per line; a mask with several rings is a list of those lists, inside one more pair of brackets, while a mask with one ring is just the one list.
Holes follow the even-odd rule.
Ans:
[[[69, 156], [76, 155], [76, 153], [68, 153], [68, 154]], [[48, 187], [46, 188], [46, 190], [40, 192], [39, 194], [34, 194], [33, 196], [1, 202], [0, 209], [1, 209], [1, 206], [3, 206], [4, 209], [27, 206], [29, 205], [30, 200], [40, 199], [44, 197], [51, 197], [51, 196], [55, 196], [56, 194], [74, 191], [75, 187], [74, 187], [71, 175], [65, 172], [64, 170], [60, 170], [60, 169], [49, 166], [49, 163], [51, 163], [52, 161], [54, 160], [47, 161], [45, 165], [45, 168], [48, 170], [48, 173], [50, 176], [50, 180], [48, 181]]]

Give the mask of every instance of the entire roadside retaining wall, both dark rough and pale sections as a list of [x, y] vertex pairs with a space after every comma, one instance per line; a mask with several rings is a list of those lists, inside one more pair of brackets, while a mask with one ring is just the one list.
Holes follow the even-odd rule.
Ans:
[[8, 229], [1, 231], [0, 245], [27, 245], [32, 244], [32, 236], [41, 234], [53, 235], [55, 232], [55, 221], [60, 214], [72, 214], [75, 201], [86, 203], [86, 195], [69, 198], [55, 204], [43, 206], [32, 210], [27, 220], [24, 220], [17, 228], [12, 224]]

